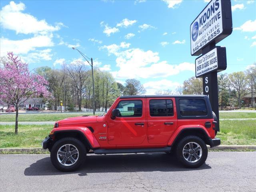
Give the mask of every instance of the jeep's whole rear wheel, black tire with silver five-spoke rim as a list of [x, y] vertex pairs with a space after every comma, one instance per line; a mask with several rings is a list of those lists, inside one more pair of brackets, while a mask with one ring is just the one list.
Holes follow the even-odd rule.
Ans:
[[177, 145], [176, 156], [188, 168], [201, 166], [207, 158], [208, 149], [205, 142], [197, 136], [186, 136]]

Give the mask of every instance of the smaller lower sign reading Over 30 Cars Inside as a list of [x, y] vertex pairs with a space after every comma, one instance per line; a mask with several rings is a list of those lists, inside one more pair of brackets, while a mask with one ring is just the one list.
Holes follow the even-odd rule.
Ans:
[[196, 58], [196, 77], [202, 77], [210, 72], [226, 70], [226, 48], [216, 47], [208, 53]]

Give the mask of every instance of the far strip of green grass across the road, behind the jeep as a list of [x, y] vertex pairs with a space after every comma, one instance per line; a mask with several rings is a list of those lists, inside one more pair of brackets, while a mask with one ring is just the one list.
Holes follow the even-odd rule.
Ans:
[[[100, 113], [96, 113], [99, 115]], [[19, 114], [19, 122], [58, 121], [68, 117], [92, 115], [92, 113], [81, 114]], [[220, 112], [220, 119], [226, 118], [256, 118], [253, 112]], [[15, 114], [0, 114], [0, 122], [15, 122]]]

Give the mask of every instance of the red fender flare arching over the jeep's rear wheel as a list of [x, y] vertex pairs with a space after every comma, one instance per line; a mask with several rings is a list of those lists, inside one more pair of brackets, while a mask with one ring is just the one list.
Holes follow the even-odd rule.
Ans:
[[207, 132], [206, 128], [202, 125], [192, 125], [192, 126], [191, 125], [190, 126], [182, 125], [182, 126], [178, 127], [176, 129], [176, 131], [172, 134], [167, 145], [172, 146], [177, 141], [178, 136], [180, 136], [180, 134], [182, 134], [183, 132], [186, 132], [187, 130], [200, 130], [204, 133], [204, 136], [207, 140], [209, 140], [211, 138], [210, 134]]

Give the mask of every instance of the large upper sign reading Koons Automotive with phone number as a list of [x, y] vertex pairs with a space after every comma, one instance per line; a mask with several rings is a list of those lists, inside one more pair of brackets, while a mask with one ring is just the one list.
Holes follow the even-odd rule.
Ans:
[[202, 54], [202, 48], [220, 42], [232, 33], [231, 2], [211, 0], [190, 25], [191, 55]]

